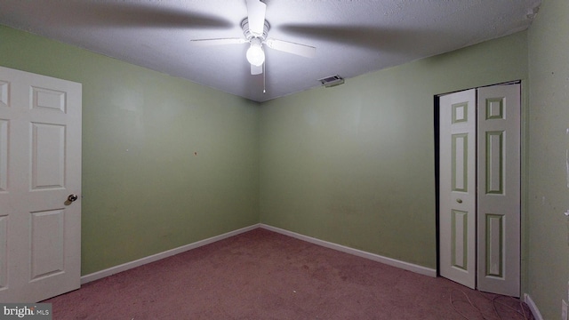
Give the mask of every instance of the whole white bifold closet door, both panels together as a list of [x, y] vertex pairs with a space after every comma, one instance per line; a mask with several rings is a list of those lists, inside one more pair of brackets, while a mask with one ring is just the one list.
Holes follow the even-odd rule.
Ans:
[[519, 297], [520, 85], [439, 101], [440, 275]]

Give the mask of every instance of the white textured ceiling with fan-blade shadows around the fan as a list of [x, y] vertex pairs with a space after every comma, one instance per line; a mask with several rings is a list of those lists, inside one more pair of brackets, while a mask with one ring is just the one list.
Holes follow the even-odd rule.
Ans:
[[[263, 0], [269, 37], [317, 47], [315, 58], [266, 49], [252, 76], [242, 37], [245, 0], [1, 0], [0, 24], [264, 101], [528, 28], [541, 0]], [[0, 40], [1, 41], [1, 40]]]

